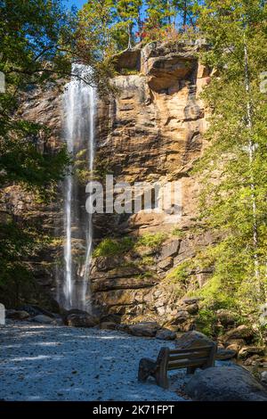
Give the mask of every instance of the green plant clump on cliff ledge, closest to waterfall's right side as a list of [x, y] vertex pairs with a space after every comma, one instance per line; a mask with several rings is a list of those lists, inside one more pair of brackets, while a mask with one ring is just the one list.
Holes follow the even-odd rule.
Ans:
[[130, 251], [134, 246], [132, 237], [103, 239], [93, 251], [93, 258], [116, 256]]

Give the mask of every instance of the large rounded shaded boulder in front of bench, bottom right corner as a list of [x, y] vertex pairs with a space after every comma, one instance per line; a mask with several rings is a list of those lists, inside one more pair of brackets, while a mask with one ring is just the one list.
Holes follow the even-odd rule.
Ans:
[[185, 386], [197, 401], [267, 401], [267, 392], [241, 366], [215, 366], [198, 371]]

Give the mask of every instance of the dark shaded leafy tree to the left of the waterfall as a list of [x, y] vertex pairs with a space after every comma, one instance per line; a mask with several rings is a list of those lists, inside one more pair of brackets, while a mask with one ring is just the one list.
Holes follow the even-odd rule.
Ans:
[[[71, 75], [73, 58], [92, 64], [99, 70], [98, 77], [105, 74], [101, 56], [95, 53], [99, 44], [93, 38], [85, 54], [77, 38], [77, 14], [62, 4], [58, 0], [0, 2], [0, 71], [5, 76], [5, 91], [0, 93], [1, 198], [7, 196], [6, 187], [20, 187], [45, 205], [69, 166], [64, 146], [51, 150], [50, 130], [20, 116], [28, 89], [53, 85], [60, 90]], [[5, 208], [0, 210], [0, 282], [19, 283], [30, 278], [28, 259], [36, 256], [48, 237], [42, 226], [18, 217], [11, 202], [0, 203]]]

